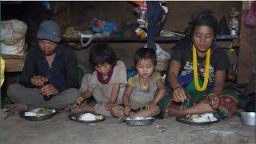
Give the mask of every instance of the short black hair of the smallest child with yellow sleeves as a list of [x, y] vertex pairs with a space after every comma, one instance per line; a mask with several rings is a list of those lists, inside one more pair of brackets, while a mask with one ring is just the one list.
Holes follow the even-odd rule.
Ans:
[[134, 56], [134, 65], [137, 65], [138, 60], [142, 59], [151, 59], [154, 63], [154, 66], [157, 66], [157, 54], [155, 53], [155, 50], [153, 48], [139, 48]]

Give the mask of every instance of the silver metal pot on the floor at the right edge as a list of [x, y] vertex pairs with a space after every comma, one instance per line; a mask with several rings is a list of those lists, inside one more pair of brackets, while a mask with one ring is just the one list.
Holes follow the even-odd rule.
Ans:
[[256, 126], [256, 113], [255, 112], [240, 112], [241, 122], [244, 125]]

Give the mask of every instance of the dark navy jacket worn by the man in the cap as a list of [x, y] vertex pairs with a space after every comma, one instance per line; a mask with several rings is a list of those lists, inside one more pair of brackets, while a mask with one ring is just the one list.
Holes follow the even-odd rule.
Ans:
[[34, 87], [30, 79], [34, 75], [41, 75], [49, 79], [49, 82], [58, 89], [58, 92], [71, 87], [78, 88], [77, 59], [70, 46], [58, 44], [52, 67], [48, 66], [45, 55], [39, 46], [31, 47], [26, 54], [26, 62], [22, 70], [20, 84], [26, 87]]

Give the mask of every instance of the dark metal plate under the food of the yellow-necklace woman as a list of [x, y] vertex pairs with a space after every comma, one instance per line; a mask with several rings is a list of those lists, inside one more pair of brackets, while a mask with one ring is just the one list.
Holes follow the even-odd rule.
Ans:
[[189, 124], [189, 125], [194, 125], [194, 126], [203, 126], [203, 125], [210, 125], [212, 123], [216, 123], [216, 122], [220, 121], [220, 118], [219, 118], [217, 113], [214, 114], [214, 117], [217, 118], [217, 121], [212, 121], [212, 122], [190, 122], [188, 120], [188, 118], [186, 118], [186, 115], [184, 115], [184, 116], [176, 117], [176, 121], [186, 123], [186, 124]]

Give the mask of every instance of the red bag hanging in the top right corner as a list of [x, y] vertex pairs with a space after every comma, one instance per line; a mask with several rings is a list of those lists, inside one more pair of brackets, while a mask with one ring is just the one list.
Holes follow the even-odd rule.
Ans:
[[253, 2], [249, 12], [246, 14], [245, 26], [250, 28], [256, 27], [256, 2]]

